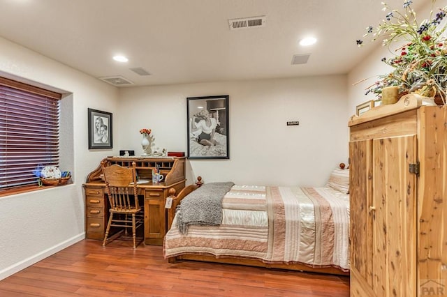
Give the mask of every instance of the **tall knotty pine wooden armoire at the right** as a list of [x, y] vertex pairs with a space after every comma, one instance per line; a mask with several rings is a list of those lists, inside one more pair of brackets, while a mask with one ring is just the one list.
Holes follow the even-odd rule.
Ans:
[[447, 296], [447, 106], [349, 121], [351, 296]]

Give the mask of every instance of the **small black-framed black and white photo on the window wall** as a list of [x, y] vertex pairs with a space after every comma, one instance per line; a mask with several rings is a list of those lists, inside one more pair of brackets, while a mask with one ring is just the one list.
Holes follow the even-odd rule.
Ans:
[[89, 149], [112, 148], [112, 114], [88, 109]]

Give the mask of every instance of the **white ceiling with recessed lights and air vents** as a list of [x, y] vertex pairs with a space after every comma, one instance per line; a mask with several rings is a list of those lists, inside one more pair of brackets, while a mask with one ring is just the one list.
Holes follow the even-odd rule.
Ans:
[[[381, 22], [381, 8], [380, 0], [0, 0], [0, 36], [131, 86], [334, 75], [380, 46], [358, 48], [356, 40]], [[229, 19], [261, 15], [265, 26], [230, 31]], [[300, 47], [309, 34], [318, 43]], [[311, 55], [291, 65], [295, 54]], [[151, 75], [129, 70], [137, 67]]]

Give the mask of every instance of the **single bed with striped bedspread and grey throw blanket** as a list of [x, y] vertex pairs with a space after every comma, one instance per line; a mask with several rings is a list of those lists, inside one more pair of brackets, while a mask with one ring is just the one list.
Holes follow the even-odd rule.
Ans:
[[335, 169], [320, 188], [190, 185], [169, 210], [163, 255], [170, 263], [213, 261], [348, 275], [348, 190], [347, 169]]

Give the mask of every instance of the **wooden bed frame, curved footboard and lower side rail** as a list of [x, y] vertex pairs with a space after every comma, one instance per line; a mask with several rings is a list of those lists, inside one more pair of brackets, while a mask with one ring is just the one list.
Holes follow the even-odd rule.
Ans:
[[[198, 176], [197, 182], [194, 185], [188, 185], [182, 191], [179, 192], [178, 195], [175, 195], [175, 190], [171, 189], [170, 197], [173, 199], [173, 204], [171, 208], [168, 208], [168, 229], [170, 229], [175, 215], [175, 208], [180, 204], [180, 201], [193, 192], [203, 184], [202, 178]], [[256, 267], [265, 267], [265, 268], [278, 268], [278, 269], [286, 269], [292, 271], [306, 271], [312, 273], [327, 273], [332, 275], [349, 275], [349, 271], [345, 272], [335, 267], [310, 267], [305, 264], [269, 264], [264, 263], [261, 260], [257, 259], [242, 259], [242, 258], [233, 258], [233, 257], [214, 257], [213, 255], [205, 255], [205, 254], [182, 254], [176, 257], [169, 257], [169, 263], [176, 263], [181, 260], [189, 260], [189, 261], [205, 261], [205, 262], [213, 262], [213, 263], [221, 263], [221, 264], [236, 264], [236, 265], [245, 265], [245, 266], [256, 266]]]

